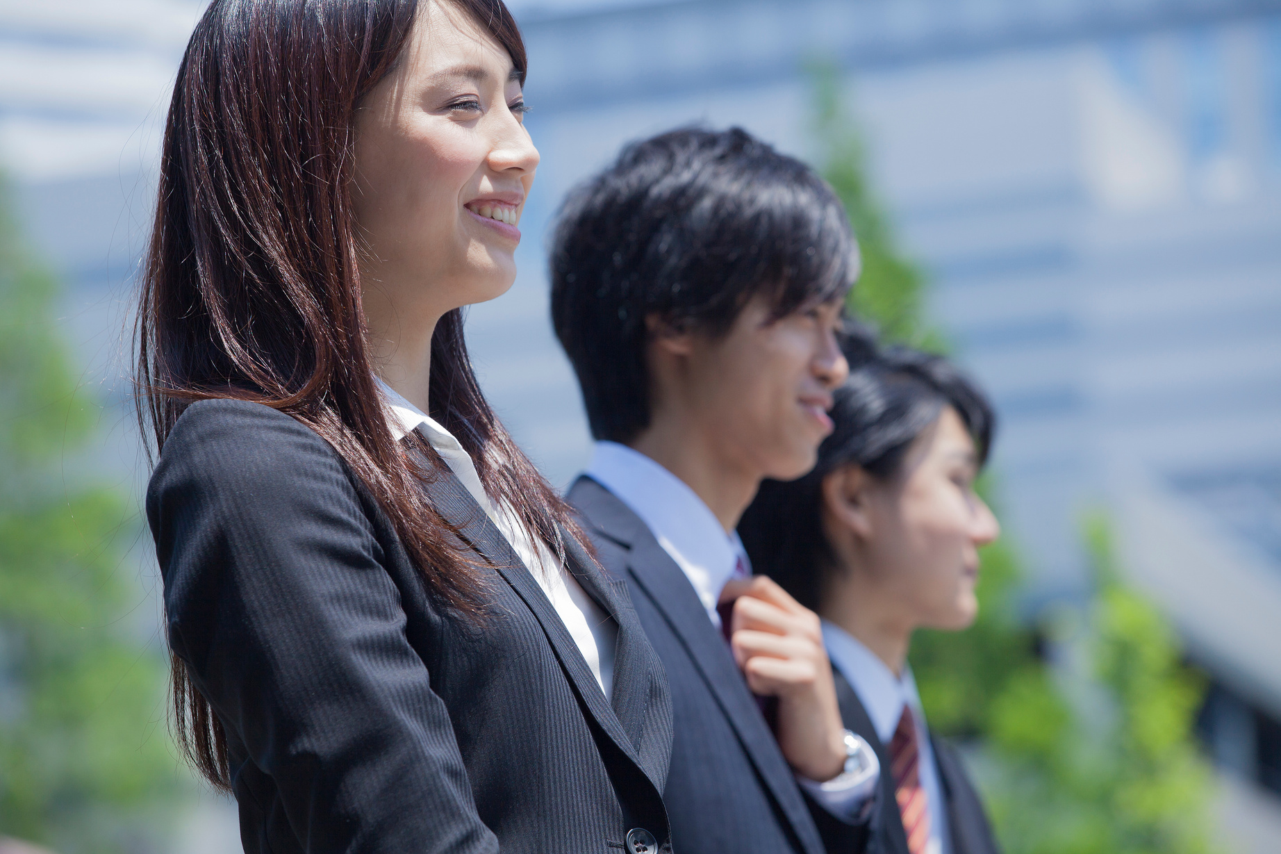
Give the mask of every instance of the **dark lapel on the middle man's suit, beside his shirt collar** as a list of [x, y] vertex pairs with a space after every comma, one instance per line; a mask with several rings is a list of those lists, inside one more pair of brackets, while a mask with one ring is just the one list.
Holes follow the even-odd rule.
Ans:
[[707, 618], [685, 573], [630, 508], [596, 481], [579, 478], [570, 498], [606, 536], [630, 546], [628, 572], [632, 578], [680, 639], [801, 844], [807, 851], [821, 853], [822, 841], [813, 830], [792, 769], [778, 750], [774, 733], [761, 717], [725, 637]]

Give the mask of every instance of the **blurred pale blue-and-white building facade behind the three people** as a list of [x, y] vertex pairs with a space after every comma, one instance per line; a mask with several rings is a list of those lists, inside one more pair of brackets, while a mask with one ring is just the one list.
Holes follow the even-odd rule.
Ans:
[[[0, 9], [0, 156], [72, 282], [68, 335], [114, 401], [104, 458], [128, 477], [128, 280], [200, 4], [131, 0], [131, 26], [67, 5], [83, 13]], [[543, 159], [521, 276], [469, 321], [488, 394], [548, 476], [566, 483], [589, 450], [547, 319], [559, 200], [680, 124], [808, 156], [804, 68], [835, 62], [931, 315], [997, 400], [1029, 608], [1088, 590], [1080, 519], [1107, 508], [1214, 680], [1217, 760], [1281, 792], [1281, 0], [578, 5], [512, 4]]]

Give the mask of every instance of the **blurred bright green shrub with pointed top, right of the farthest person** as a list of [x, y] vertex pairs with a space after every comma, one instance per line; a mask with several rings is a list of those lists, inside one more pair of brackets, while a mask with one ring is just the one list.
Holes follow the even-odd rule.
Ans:
[[1191, 737], [1204, 686], [1122, 583], [1103, 517], [1086, 542], [1097, 594], [1053, 623], [1058, 683], [1016, 683], [994, 705], [993, 816], [1013, 851], [1208, 853], [1212, 780]]

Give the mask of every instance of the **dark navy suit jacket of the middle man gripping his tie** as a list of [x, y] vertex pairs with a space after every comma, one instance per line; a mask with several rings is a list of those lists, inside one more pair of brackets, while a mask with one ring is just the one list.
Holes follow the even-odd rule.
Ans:
[[[725, 637], [685, 573], [644, 522], [592, 478], [580, 477], [569, 500], [601, 564], [626, 581], [640, 624], [667, 669], [674, 736], [664, 799], [676, 851], [821, 854], [824, 840], [811, 816], [821, 808], [797, 786]], [[862, 850], [865, 828], [844, 830], [842, 854]]]

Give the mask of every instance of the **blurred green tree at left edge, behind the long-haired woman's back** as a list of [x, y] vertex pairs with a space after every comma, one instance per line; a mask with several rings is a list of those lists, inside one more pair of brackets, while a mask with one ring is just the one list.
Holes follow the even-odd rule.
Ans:
[[181, 790], [165, 663], [129, 631], [143, 594], [117, 548], [137, 531], [126, 499], [63, 465], [96, 408], [8, 200], [0, 185], [0, 836], [137, 851], [131, 817], [154, 825]]

